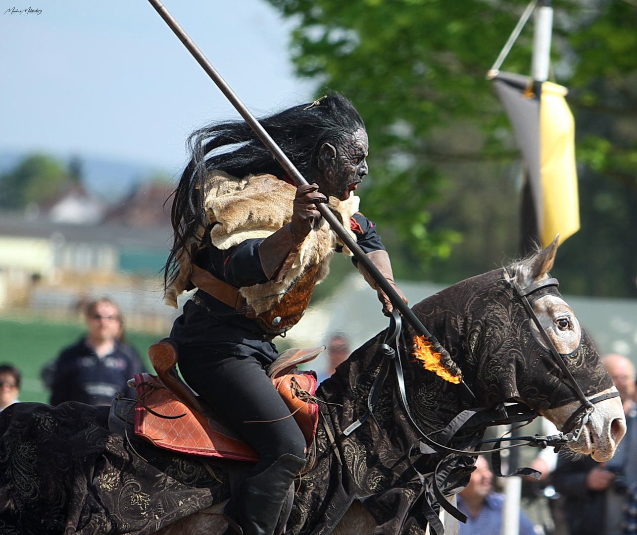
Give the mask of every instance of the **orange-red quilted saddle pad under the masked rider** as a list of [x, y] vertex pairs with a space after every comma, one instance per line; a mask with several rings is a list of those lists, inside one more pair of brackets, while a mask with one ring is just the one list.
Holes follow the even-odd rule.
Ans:
[[[204, 457], [257, 461], [259, 455], [213, 414], [192, 411], [166, 390], [151, 374], [135, 375], [136, 390], [143, 401], [135, 408], [135, 434], [144, 437], [158, 448], [191, 453]], [[318, 423], [318, 406], [313, 401], [299, 399], [299, 395], [313, 395], [317, 388], [314, 372], [297, 372], [273, 380], [290, 412], [311, 444]], [[231, 400], [229, 400], [231, 402]], [[149, 410], [150, 409], [150, 410]], [[298, 410], [297, 410], [298, 409]], [[171, 418], [166, 418], [169, 416]], [[178, 418], [175, 418], [178, 416]]]

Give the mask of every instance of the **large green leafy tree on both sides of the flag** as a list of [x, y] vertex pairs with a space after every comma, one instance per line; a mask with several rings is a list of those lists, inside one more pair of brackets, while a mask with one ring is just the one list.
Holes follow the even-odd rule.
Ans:
[[[366, 215], [403, 253], [392, 251], [397, 275], [454, 282], [515, 256], [519, 151], [485, 73], [526, 1], [269, 1], [295, 21], [299, 75], [317, 80], [317, 95], [326, 87], [346, 94], [366, 121], [371, 172], [359, 191]], [[637, 131], [637, 8], [622, 0], [557, 0], [554, 7], [554, 71], [572, 89], [582, 180], [582, 230], [565, 242], [557, 271], [568, 291], [634, 295], [632, 260], [616, 283], [592, 281], [637, 226], [626, 216], [599, 228], [599, 212], [586, 209], [603, 205], [593, 199], [601, 190], [633, 213], [627, 203], [637, 158], [626, 132]], [[505, 70], [529, 72], [531, 36], [529, 24]], [[593, 231], [597, 251], [587, 247]], [[591, 253], [607, 258], [597, 271], [585, 261]]]

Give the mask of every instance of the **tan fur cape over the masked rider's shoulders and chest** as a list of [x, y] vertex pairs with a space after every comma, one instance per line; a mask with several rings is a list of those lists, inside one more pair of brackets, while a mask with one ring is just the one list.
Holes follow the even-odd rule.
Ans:
[[[232, 177], [222, 171], [208, 173], [204, 207], [208, 224], [214, 224], [210, 238], [218, 249], [229, 249], [250, 238], [266, 238], [275, 233], [292, 219], [292, 206], [296, 187], [276, 178], [274, 175], [248, 175], [243, 179]], [[357, 211], [360, 199], [354, 194], [346, 201], [330, 197], [327, 206], [350, 230], [349, 219]], [[240, 288], [247, 304], [256, 312], [269, 310], [278, 303], [286, 291], [313, 265], [319, 265], [317, 282], [329, 272], [329, 260], [336, 246], [343, 252], [352, 253], [343, 245], [329, 224], [321, 219], [317, 228], [308, 234], [292, 268], [282, 282], [266, 282]], [[188, 256], [188, 261], [185, 257]], [[180, 274], [166, 291], [166, 304], [176, 308], [176, 298], [187, 287], [192, 272], [189, 255], [180, 258]]]

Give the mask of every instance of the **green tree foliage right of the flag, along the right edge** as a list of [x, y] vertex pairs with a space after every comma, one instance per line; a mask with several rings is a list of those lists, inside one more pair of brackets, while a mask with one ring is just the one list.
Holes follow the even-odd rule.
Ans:
[[582, 229], [554, 272], [568, 293], [637, 297], [637, 5], [600, 2], [568, 45]]

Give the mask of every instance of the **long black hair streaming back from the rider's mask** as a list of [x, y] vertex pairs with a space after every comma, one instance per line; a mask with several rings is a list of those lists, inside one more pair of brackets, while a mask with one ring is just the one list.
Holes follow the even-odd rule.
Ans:
[[[358, 129], [365, 128], [354, 105], [336, 92], [259, 122], [310, 182], [317, 177], [318, 149], [323, 143], [339, 145]], [[201, 239], [197, 231], [206, 225], [204, 184], [210, 170], [224, 171], [238, 178], [259, 173], [281, 178], [285, 174], [274, 156], [243, 121], [205, 126], [190, 135], [188, 144], [192, 158], [171, 194], [174, 196], [171, 223], [175, 238], [164, 267], [165, 288], [178, 277], [178, 260], [189, 260], [190, 244]], [[183, 253], [186, 258], [182, 257]]]

